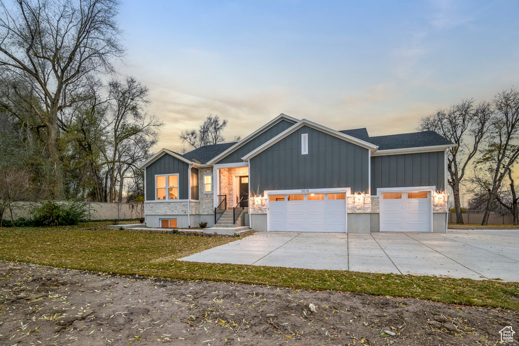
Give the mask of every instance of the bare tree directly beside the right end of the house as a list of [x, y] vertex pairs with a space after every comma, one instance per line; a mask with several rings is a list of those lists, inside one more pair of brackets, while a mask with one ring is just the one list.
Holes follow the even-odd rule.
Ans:
[[456, 223], [463, 224], [461, 214], [460, 186], [465, 177], [469, 162], [488, 130], [492, 107], [488, 102], [474, 106], [472, 100], [465, 100], [446, 110], [422, 118], [419, 131], [436, 131], [456, 144], [449, 149], [447, 156], [447, 183], [453, 190]]

